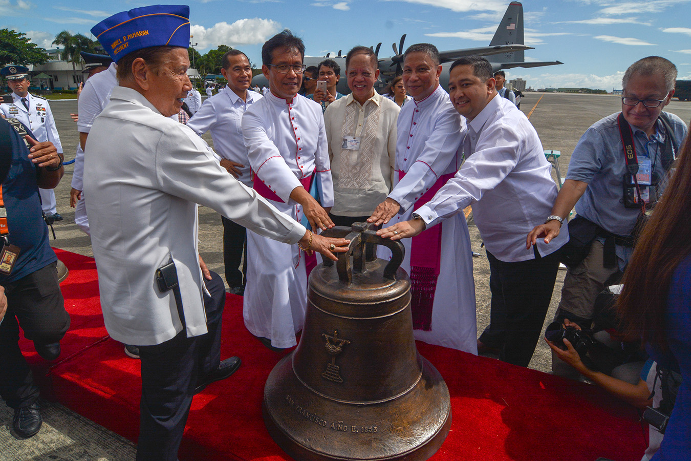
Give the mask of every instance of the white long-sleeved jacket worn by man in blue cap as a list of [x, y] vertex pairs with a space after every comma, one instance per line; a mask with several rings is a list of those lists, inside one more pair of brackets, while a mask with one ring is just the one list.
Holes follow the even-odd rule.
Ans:
[[155, 281], [155, 270], [171, 260], [187, 336], [207, 332], [197, 203], [278, 241], [305, 234], [220, 167], [187, 126], [121, 86], [89, 134], [84, 189], [106, 328], [126, 344], [160, 344], [182, 330], [173, 292]]

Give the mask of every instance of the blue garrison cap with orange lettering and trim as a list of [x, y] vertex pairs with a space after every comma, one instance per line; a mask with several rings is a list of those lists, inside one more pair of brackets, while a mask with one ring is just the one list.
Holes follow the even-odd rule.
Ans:
[[149, 46], [189, 48], [189, 6], [152, 5], [123, 11], [91, 28], [116, 63]]

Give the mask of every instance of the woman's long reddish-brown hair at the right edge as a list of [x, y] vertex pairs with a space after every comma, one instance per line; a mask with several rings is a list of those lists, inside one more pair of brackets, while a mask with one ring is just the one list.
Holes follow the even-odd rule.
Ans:
[[668, 348], [665, 313], [676, 267], [691, 254], [691, 140], [681, 148], [676, 169], [636, 243], [617, 305], [627, 339]]

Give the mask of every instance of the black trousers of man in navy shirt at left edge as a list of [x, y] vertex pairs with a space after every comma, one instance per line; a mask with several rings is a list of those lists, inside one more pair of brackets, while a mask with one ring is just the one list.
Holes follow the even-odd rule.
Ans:
[[70, 326], [57, 282], [56, 263], [50, 263], [5, 286], [8, 308], [0, 324], [0, 395], [10, 408], [36, 402], [39, 388], [19, 349], [19, 326], [37, 344], [57, 343]]

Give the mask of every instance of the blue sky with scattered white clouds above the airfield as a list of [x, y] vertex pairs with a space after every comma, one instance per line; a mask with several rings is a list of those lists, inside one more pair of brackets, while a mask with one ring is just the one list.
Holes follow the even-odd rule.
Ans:
[[[173, 1], [171, 3], [178, 3]], [[343, 54], [383, 42], [379, 57], [408, 34], [406, 46], [428, 41], [439, 50], [486, 46], [506, 0], [191, 0], [192, 43], [200, 53], [218, 44], [239, 48], [261, 64], [261, 45], [290, 28], [306, 55]], [[529, 86], [621, 88], [632, 62], [649, 55], [670, 59], [679, 78], [691, 79], [691, 0], [525, 0], [526, 60], [565, 64], [513, 69]], [[109, 15], [151, 3], [87, 0], [0, 0], [0, 28], [26, 32], [39, 46], [61, 30], [88, 35]]]

